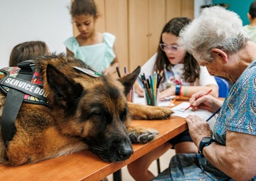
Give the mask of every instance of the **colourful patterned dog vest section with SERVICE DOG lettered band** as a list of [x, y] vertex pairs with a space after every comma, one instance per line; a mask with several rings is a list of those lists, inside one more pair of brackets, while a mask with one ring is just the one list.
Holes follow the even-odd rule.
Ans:
[[40, 70], [35, 70], [30, 82], [16, 78], [19, 70], [19, 67], [6, 67], [0, 69], [1, 72], [6, 74], [6, 77], [0, 81], [1, 91], [4, 94], [7, 94], [9, 88], [12, 87], [13, 89], [24, 92], [24, 102], [49, 106], [46, 100], [47, 95], [44, 89], [42, 89], [43, 79]]

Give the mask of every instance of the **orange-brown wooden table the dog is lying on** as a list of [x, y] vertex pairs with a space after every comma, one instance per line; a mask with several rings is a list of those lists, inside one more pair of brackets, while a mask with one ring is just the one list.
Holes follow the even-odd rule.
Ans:
[[104, 162], [85, 150], [19, 167], [0, 165], [0, 180], [101, 180], [188, 129], [184, 118], [174, 116], [166, 120], [133, 120], [132, 125], [154, 128], [159, 135], [148, 144], [133, 144], [134, 154], [126, 161]]

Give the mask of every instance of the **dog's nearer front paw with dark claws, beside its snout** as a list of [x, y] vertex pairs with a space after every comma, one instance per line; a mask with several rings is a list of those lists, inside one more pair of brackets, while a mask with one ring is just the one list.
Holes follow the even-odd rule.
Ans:
[[158, 131], [152, 128], [135, 127], [130, 128], [128, 134], [132, 143], [146, 143], [154, 139], [158, 135]]

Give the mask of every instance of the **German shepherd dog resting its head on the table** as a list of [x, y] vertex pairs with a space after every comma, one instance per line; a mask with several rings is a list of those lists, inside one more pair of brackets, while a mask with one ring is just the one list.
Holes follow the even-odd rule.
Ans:
[[[116, 80], [75, 69], [90, 67], [63, 53], [41, 56], [35, 62], [50, 107], [22, 103], [13, 139], [6, 144], [0, 136], [0, 163], [19, 166], [84, 149], [107, 162], [124, 161], [133, 153], [131, 142], [145, 143], [158, 134], [154, 129], [131, 127], [133, 118], [167, 119], [173, 113], [169, 108], [126, 101], [140, 67]], [[5, 102], [6, 95], [0, 92], [1, 122]]]

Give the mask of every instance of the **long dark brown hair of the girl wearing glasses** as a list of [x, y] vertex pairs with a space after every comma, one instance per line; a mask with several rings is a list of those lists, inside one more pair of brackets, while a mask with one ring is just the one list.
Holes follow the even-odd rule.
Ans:
[[[186, 25], [190, 23], [191, 19], [186, 17], [177, 17], [171, 19], [163, 28], [160, 36], [159, 43], [163, 43], [162, 41], [162, 34], [164, 32], [171, 33], [175, 36], [179, 36], [180, 30]], [[157, 60], [154, 64], [154, 70], [161, 71], [164, 69], [166, 65], [166, 69], [170, 72], [172, 72], [173, 65], [170, 64], [168, 57], [166, 56], [166, 53], [164, 53], [161, 48], [158, 46], [157, 49]], [[186, 56], [184, 58], [184, 73], [183, 73], [183, 79], [185, 81], [188, 81], [190, 83], [193, 83], [196, 78], [199, 78], [200, 74], [200, 66], [198, 62], [196, 62], [196, 59], [188, 52], [186, 52]], [[164, 78], [164, 76], [163, 76]]]

